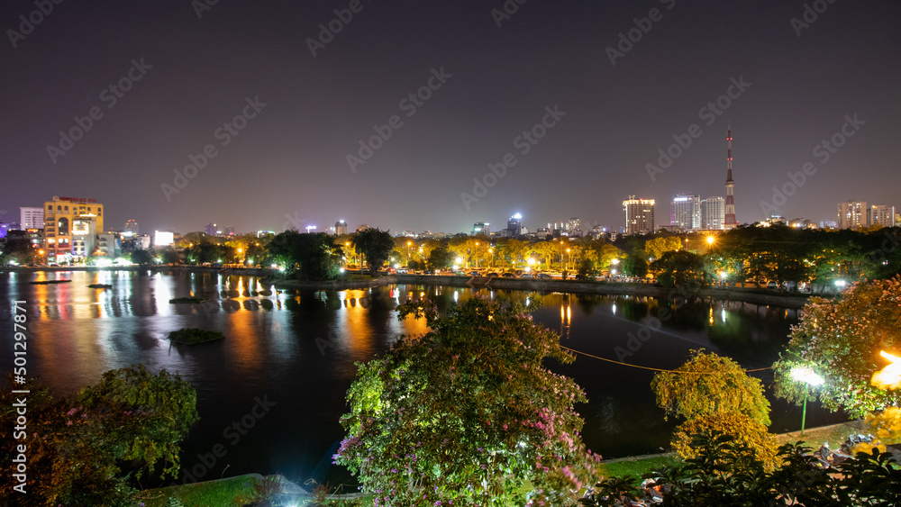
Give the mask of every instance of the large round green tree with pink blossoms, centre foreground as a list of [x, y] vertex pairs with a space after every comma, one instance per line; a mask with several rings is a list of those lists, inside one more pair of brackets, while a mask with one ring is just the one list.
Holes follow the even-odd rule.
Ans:
[[597, 457], [573, 409], [585, 394], [542, 366], [574, 359], [560, 337], [521, 305], [478, 297], [443, 317], [400, 307], [409, 314], [432, 330], [359, 365], [336, 463], [377, 505], [521, 504], [530, 490], [533, 502], [575, 498]]

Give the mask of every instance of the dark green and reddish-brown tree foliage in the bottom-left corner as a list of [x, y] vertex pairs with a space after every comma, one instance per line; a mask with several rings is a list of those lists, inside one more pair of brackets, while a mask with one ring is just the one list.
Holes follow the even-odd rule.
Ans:
[[[59, 402], [47, 389], [25, 388], [32, 391], [26, 436], [31, 481], [30, 494], [17, 495], [18, 505], [130, 505], [134, 490], [128, 476], [174, 478], [179, 444], [198, 419], [194, 388], [166, 370], [159, 375], [143, 366], [111, 370], [99, 385]], [[5, 386], [0, 393], [0, 423], [7, 428], [17, 417], [10, 392]], [[18, 452], [14, 445], [22, 443], [3, 439], [0, 457], [9, 463]], [[14, 479], [5, 474], [2, 481], [0, 493], [6, 496]]]

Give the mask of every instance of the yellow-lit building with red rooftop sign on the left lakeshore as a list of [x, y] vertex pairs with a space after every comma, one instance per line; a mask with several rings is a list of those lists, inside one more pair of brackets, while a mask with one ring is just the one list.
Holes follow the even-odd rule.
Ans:
[[44, 249], [47, 251], [47, 261], [66, 262], [72, 256], [93, 253], [94, 235], [96, 231], [104, 230], [104, 207], [96, 199], [84, 197], [53, 197], [52, 201], [45, 202]]

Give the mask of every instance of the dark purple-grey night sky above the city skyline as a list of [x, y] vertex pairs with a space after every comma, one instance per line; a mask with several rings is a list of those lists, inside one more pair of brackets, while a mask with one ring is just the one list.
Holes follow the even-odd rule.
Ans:
[[[198, 18], [189, 0], [68, 0], [32, 14], [40, 23], [20, 37], [10, 30], [38, 7], [4, 2], [0, 220], [64, 195], [96, 198], [108, 226], [134, 218], [145, 232], [323, 229], [339, 218], [453, 232], [496, 229], [517, 212], [529, 228], [571, 216], [618, 227], [623, 199], [639, 195], [657, 200], [662, 223], [673, 195], [725, 195], [727, 122], [739, 222], [764, 218], [761, 201], [805, 162], [815, 172], [777, 199], [779, 214], [834, 220], [851, 199], [901, 206], [897, 2], [529, 0], [498, 26], [503, 0], [361, 0], [314, 56], [318, 25], [353, 4], [220, 1]], [[805, 5], [813, 23], [793, 27]], [[639, 38], [633, 19], [651, 9], [658, 21], [640, 21], [650, 29]], [[607, 48], [631, 29], [638, 41], [612, 64]], [[432, 78], [441, 68], [450, 77]], [[430, 78], [427, 100], [405, 101]], [[109, 86], [122, 79], [130, 89], [116, 96]], [[733, 87], [721, 115], [702, 111], [733, 79], [750, 86]], [[245, 107], [256, 97], [259, 112]], [[517, 136], [554, 106], [565, 116], [548, 117], [554, 126], [536, 129], [544, 137], [523, 154]], [[77, 135], [74, 118], [92, 108], [102, 117], [51, 156], [59, 131]], [[254, 117], [236, 136], [217, 135], [244, 112]], [[348, 154], [394, 115], [390, 139], [351, 171]], [[846, 115], [863, 122], [844, 126], [851, 137]], [[692, 124], [700, 134], [652, 181], [646, 164]], [[841, 148], [816, 148], [833, 135]], [[207, 145], [214, 157], [167, 198], [161, 186]], [[460, 194], [507, 153], [516, 164], [467, 209]]]

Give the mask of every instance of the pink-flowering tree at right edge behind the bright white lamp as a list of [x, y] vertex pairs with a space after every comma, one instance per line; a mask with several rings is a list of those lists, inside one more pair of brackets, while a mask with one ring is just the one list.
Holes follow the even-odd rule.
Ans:
[[[901, 276], [852, 285], [841, 300], [812, 298], [773, 365], [776, 394], [799, 403], [809, 389], [792, 376], [807, 368], [824, 383], [806, 394], [833, 411], [859, 417], [901, 404], [901, 393], [871, 385], [887, 361], [879, 351], [901, 346]], [[897, 349], [896, 349], [897, 353]]]

